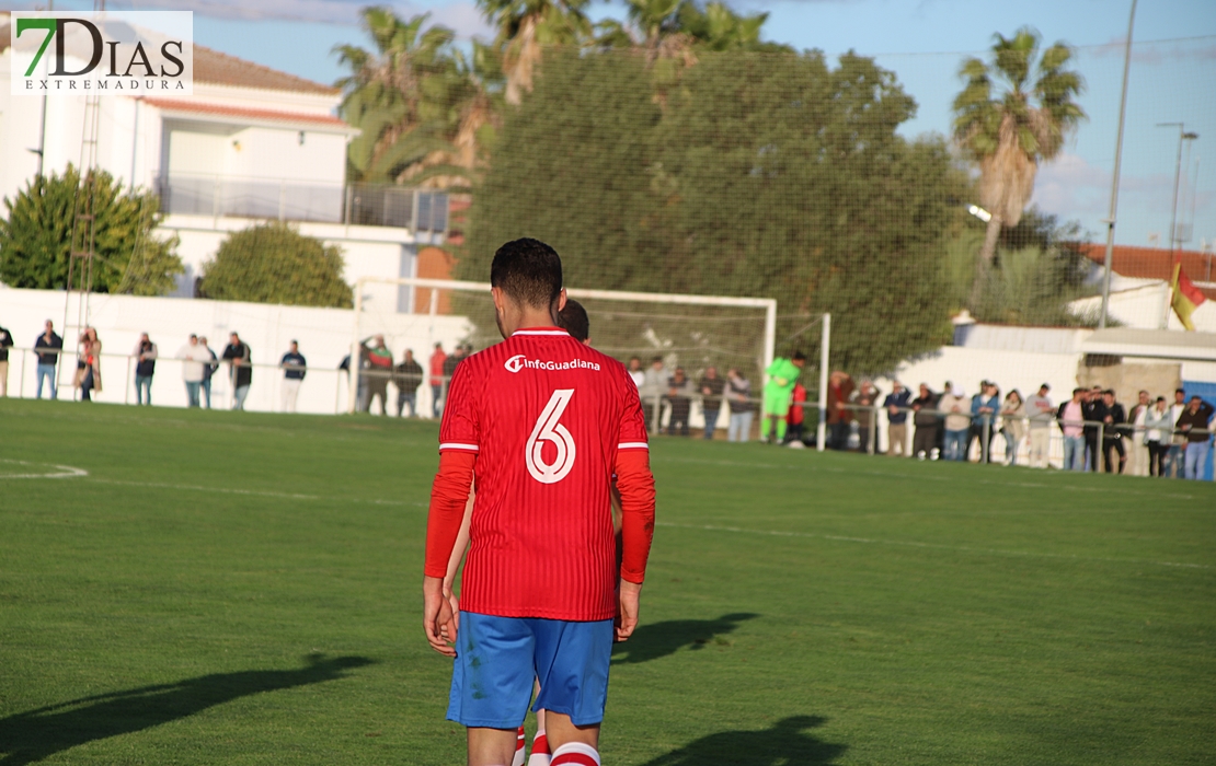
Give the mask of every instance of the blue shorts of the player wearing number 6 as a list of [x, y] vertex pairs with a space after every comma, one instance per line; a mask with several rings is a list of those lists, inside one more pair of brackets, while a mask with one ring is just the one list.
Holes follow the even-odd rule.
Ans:
[[544, 708], [575, 726], [604, 719], [613, 622], [575, 623], [460, 613], [447, 720], [465, 726], [517, 728], [528, 715], [533, 680]]

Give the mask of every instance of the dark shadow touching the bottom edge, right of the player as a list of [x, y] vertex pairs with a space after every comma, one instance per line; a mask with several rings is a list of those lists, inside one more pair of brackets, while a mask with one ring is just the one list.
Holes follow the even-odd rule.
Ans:
[[806, 733], [822, 726], [817, 715], [795, 715], [761, 731], [719, 732], [662, 755], [644, 766], [820, 766], [832, 764], [848, 745]]

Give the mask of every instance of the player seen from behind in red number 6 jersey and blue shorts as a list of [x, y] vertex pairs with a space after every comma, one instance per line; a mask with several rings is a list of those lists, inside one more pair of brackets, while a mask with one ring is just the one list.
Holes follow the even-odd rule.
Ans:
[[[554, 327], [564, 294], [552, 248], [507, 243], [490, 284], [505, 341], [462, 362], [449, 388], [427, 520], [423, 626], [432, 647], [456, 659], [447, 717], [468, 727], [472, 766], [511, 762], [534, 677], [552, 765], [598, 765], [612, 643], [637, 626], [654, 530], [641, 403], [619, 362]], [[443, 579], [474, 472], [457, 634]], [[444, 635], [457, 636], [456, 646]]]

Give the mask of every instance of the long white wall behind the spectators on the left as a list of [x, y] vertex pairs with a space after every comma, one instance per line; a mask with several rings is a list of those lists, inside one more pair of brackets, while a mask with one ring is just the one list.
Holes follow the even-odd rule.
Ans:
[[[35, 392], [35, 359], [29, 348], [50, 319], [56, 331], [63, 334], [66, 295], [60, 290], [18, 290], [0, 285], [0, 327], [7, 328], [16, 348], [9, 354], [9, 396], [33, 398]], [[75, 312], [73, 299], [73, 313]], [[338, 364], [350, 352], [350, 328], [354, 312], [345, 308], [306, 308], [300, 306], [270, 306], [236, 301], [182, 300], [174, 297], [136, 297], [130, 295], [98, 295], [89, 299], [90, 324], [97, 328], [102, 341], [103, 390], [100, 402], [134, 403], [134, 364], [129, 354], [140, 333], [148, 333], [157, 345], [161, 359], [152, 379], [152, 401], [158, 407], [185, 407], [186, 388], [181, 379], [181, 363], [173, 359], [190, 335], [206, 335], [216, 356], [223, 354], [229, 333], [237, 331], [253, 351], [254, 373], [246, 409], [271, 412], [282, 409], [282, 378], [278, 361], [292, 340], [300, 344], [308, 359], [309, 373], [299, 392], [298, 412], [333, 414], [347, 409], [347, 375], [338, 373]], [[427, 358], [437, 342], [450, 351], [469, 331], [465, 317], [390, 314], [390, 337], [394, 361], [406, 348], [427, 368]], [[75, 365], [75, 337], [64, 337], [67, 369], [60, 374], [60, 398], [72, 398], [71, 386]], [[390, 388], [390, 396], [395, 388]], [[229, 407], [230, 385], [226, 367], [220, 367], [212, 384], [212, 405]], [[44, 396], [46, 393], [44, 392]], [[418, 410], [427, 414], [429, 387], [418, 391]], [[395, 412], [395, 403], [394, 403]]]

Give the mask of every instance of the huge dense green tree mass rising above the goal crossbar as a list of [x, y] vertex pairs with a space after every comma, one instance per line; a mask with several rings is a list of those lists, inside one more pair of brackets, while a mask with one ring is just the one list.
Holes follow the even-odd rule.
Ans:
[[856, 371], [948, 337], [938, 260], [966, 178], [944, 142], [895, 132], [916, 104], [891, 73], [704, 53], [660, 107], [640, 51], [554, 56], [506, 117], [462, 278], [534, 236], [572, 286], [771, 296], [778, 336], [831, 311], [833, 357]]

